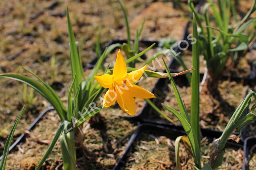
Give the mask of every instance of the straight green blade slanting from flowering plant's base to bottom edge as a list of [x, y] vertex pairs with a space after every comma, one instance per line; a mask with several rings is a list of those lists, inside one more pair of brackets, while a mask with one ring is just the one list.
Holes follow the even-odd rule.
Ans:
[[[63, 122], [63, 121], [62, 121]], [[42, 157], [42, 159], [40, 160], [40, 162], [38, 163], [37, 167], [35, 170], [39, 170], [42, 165], [44, 164], [45, 160], [48, 158], [48, 156], [51, 154], [51, 151], [53, 150], [54, 146], [56, 145], [57, 141], [59, 140], [59, 137], [62, 133], [62, 122], [60, 123], [52, 141], [51, 141], [51, 144], [49, 145], [48, 149], [46, 150], [46, 152], [44, 153], [44, 156]]]

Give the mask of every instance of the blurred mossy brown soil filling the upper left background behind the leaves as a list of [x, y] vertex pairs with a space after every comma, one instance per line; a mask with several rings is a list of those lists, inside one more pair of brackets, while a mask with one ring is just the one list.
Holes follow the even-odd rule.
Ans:
[[[125, 1], [127, 15], [133, 18], [151, 0]], [[36, 73], [59, 92], [66, 82], [71, 80], [69, 63], [69, 39], [67, 34], [67, 18], [69, 13], [75, 39], [79, 41], [80, 56], [83, 67], [96, 54], [94, 44], [99, 33], [100, 43], [105, 44], [116, 38], [125, 21], [117, 1], [67, 1], [59, 0], [57, 4], [50, 1], [5, 1], [1, 3], [0, 34], [0, 73], [30, 74], [20, 66]], [[104, 7], [104, 8], [102, 8]], [[114, 18], [114, 19], [113, 19]], [[103, 46], [103, 45], [102, 45]], [[53, 62], [55, 61], [55, 62]], [[53, 67], [49, 67], [53, 64]], [[32, 77], [32, 76], [30, 76]], [[0, 80], [0, 126], [1, 137], [7, 138], [11, 122], [18, 116], [24, 103], [21, 99], [23, 84], [1, 78]], [[30, 88], [28, 88], [30, 91]], [[32, 107], [27, 106], [29, 116], [22, 117], [18, 127], [27, 127], [46, 106], [46, 101], [35, 92], [37, 101]], [[7, 118], [8, 117], [8, 118]], [[25, 124], [24, 124], [25, 123]], [[24, 131], [24, 128], [17, 128]]]

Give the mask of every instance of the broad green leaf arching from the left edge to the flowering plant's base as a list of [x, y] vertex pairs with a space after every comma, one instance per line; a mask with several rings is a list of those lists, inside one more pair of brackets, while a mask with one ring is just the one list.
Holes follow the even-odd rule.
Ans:
[[35, 80], [28, 78], [26, 76], [17, 75], [17, 74], [0, 74], [0, 77], [4, 78], [10, 78], [13, 80], [20, 81], [22, 83], [27, 84], [28, 86], [32, 87], [34, 90], [36, 90], [38, 93], [40, 93], [46, 100], [51, 103], [51, 105], [54, 107], [54, 109], [57, 111], [59, 117], [61, 120], [65, 120], [66, 118], [66, 111], [63, 111], [62, 106], [59, 104], [59, 102], [56, 100], [54, 95], [49, 92], [49, 90], [44, 87], [43, 85], [39, 84]]

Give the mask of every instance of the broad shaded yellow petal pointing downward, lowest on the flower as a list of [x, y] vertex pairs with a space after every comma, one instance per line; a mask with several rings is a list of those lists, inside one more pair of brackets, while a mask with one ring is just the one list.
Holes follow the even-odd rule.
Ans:
[[116, 101], [118, 105], [128, 113], [133, 116], [135, 114], [135, 100], [133, 96], [129, 93], [128, 90], [124, 90], [122, 88], [115, 87], [115, 91], [117, 93]]

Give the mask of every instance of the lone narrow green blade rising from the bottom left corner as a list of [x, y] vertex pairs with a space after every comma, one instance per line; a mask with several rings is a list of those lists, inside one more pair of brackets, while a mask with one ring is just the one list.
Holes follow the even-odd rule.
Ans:
[[16, 121], [14, 122], [14, 125], [10, 131], [10, 134], [7, 138], [7, 141], [5, 143], [5, 148], [3, 150], [3, 157], [2, 157], [2, 161], [1, 161], [1, 165], [0, 165], [0, 170], [5, 170], [5, 165], [6, 165], [6, 160], [7, 160], [7, 156], [8, 156], [8, 153], [9, 153], [9, 148], [11, 146], [11, 143], [12, 143], [12, 140], [13, 140], [13, 135], [14, 135], [14, 132], [16, 130], [16, 127], [20, 121], [20, 118], [22, 116], [22, 113], [25, 109], [26, 105], [23, 106], [22, 110], [20, 111], [20, 114], [18, 115]]

